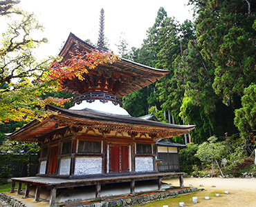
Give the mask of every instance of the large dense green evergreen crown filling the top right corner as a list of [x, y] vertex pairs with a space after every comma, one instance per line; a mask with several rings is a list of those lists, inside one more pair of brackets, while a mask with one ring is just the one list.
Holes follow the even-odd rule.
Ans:
[[196, 18], [196, 37], [203, 59], [214, 66], [212, 87], [230, 104], [234, 93], [255, 81], [255, 13], [248, 15], [246, 1], [210, 0]]

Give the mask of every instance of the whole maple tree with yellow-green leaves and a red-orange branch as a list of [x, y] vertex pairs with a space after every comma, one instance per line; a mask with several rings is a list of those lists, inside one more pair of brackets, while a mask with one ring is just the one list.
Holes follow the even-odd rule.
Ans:
[[34, 39], [31, 34], [35, 30], [43, 31], [43, 26], [34, 14], [15, 7], [8, 11], [10, 14], [0, 17], [11, 19], [15, 15], [15, 21], [9, 23], [0, 39], [0, 124], [46, 117], [49, 113], [44, 110], [46, 104], [63, 106], [70, 100], [42, 99], [46, 92], [61, 90], [63, 79], [82, 79], [84, 72], [116, 59], [111, 52], [94, 50], [89, 53], [77, 48], [74, 54], [71, 53], [71, 59], [65, 61], [57, 61], [56, 57], [37, 61], [33, 49], [47, 39]]

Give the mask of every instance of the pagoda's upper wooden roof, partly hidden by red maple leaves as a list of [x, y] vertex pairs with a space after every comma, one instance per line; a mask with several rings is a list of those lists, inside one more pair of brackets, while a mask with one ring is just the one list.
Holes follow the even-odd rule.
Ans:
[[[95, 50], [95, 47], [89, 45], [89, 43], [86, 43], [85, 41], [82, 41], [82, 39], [76, 37], [75, 34], [70, 33], [60, 52], [60, 56], [64, 59], [69, 59], [69, 51], [73, 51], [77, 46], [80, 50], [84, 50], [86, 52]], [[100, 74], [105, 75], [107, 79], [111, 78], [119, 81], [119, 87], [116, 87], [113, 92], [116, 97], [120, 98], [154, 83], [158, 79], [167, 75], [169, 71], [144, 66], [140, 63], [120, 58], [112, 64], [103, 63], [93, 70], [94, 75], [95, 72], [100, 72]], [[74, 81], [74, 83], [71, 83], [72, 81]], [[64, 84], [66, 84], [66, 87], [71, 92], [81, 94], [84, 90], [84, 83], [80, 83], [79, 80], [68, 80], [68, 83]]]

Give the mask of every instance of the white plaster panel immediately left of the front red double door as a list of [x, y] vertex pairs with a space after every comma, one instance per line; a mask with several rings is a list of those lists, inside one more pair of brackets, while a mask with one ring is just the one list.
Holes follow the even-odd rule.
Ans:
[[102, 157], [75, 158], [75, 175], [93, 175], [102, 173]]

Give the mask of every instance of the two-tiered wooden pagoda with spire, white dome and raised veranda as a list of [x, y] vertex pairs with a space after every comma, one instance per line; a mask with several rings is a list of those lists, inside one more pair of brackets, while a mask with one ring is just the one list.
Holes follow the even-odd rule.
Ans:
[[[92, 52], [95, 47], [69, 34], [60, 52], [63, 59], [75, 50]], [[100, 17], [98, 50], [104, 48], [104, 12]], [[39, 170], [35, 177], [12, 178], [28, 197], [35, 186], [35, 201], [41, 189], [49, 190], [49, 206], [55, 206], [57, 191], [77, 186], [95, 186], [100, 198], [102, 184], [130, 182], [134, 194], [136, 181], [156, 179], [161, 188], [163, 177], [180, 177], [183, 172], [158, 172], [156, 140], [188, 133], [195, 126], [165, 124], [131, 117], [120, 98], [167, 75], [167, 70], [151, 68], [127, 59], [102, 63], [84, 73], [84, 80], [66, 79], [65, 90], [77, 94], [69, 109], [46, 106], [53, 115], [31, 121], [8, 137], [35, 141], [41, 146]]]

